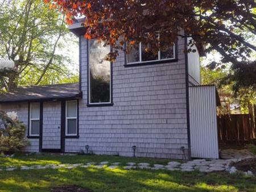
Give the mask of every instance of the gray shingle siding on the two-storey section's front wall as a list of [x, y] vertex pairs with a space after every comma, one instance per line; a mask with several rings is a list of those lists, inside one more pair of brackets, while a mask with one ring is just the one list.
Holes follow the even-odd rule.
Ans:
[[81, 38], [80, 137], [66, 139], [65, 151], [89, 145], [96, 154], [183, 158], [188, 148], [184, 40], [178, 41], [178, 61], [125, 68], [120, 52], [113, 63], [113, 103], [87, 107], [87, 50]]

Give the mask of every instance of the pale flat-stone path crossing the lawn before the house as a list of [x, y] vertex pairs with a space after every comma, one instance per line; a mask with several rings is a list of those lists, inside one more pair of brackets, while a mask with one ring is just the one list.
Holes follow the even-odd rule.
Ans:
[[[198, 170], [199, 172], [203, 173], [210, 173], [210, 172], [221, 172], [226, 171], [230, 174], [237, 173], [237, 169], [234, 166], [231, 166], [233, 162], [241, 161], [240, 159], [234, 158], [229, 160], [191, 160], [184, 163], [178, 161], [170, 161], [167, 165], [161, 164], [154, 164], [150, 165], [147, 162], [127, 162], [125, 165], [121, 164], [120, 162], [113, 162], [109, 163], [108, 161], [102, 162], [88, 162], [86, 164], [49, 164], [49, 165], [35, 165], [35, 166], [21, 166], [21, 167], [8, 167], [8, 168], [0, 168], [0, 171], [13, 171], [13, 170], [30, 170], [30, 169], [73, 169], [77, 167], [81, 168], [89, 168], [94, 167], [98, 169], [117, 169], [123, 168], [126, 170], [130, 169], [151, 169], [151, 170], [179, 170], [181, 172], [193, 172]], [[249, 172], [245, 172], [247, 176], [252, 176], [253, 174]]]

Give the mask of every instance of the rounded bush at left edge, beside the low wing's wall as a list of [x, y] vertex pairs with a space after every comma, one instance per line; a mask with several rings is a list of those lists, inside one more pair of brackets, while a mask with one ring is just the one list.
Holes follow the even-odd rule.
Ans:
[[0, 153], [11, 155], [22, 151], [29, 142], [25, 138], [26, 126], [18, 120], [15, 112], [0, 112]]

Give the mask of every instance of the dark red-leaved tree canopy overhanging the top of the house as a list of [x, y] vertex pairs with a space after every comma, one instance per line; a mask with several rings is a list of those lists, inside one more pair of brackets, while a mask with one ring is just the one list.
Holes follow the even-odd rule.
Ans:
[[[179, 36], [193, 37], [189, 45], [196, 44], [201, 49], [206, 45], [206, 52], [216, 50], [222, 55], [222, 64], [232, 62], [239, 86], [256, 89], [256, 60], [249, 59], [256, 51], [252, 43], [256, 34], [254, 0], [44, 2], [64, 12], [68, 24], [84, 16], [85, 38], [105, 41], [116, 49], [123, 49], [125, 41], [125, 51], [142, 42], [147, 45], [146, 51], [155, 53], [175, 43]], [[246, 38], [249, 36], [250, 40]], [[117, 55], [118, 51], [114, 51], [108, 59]]]

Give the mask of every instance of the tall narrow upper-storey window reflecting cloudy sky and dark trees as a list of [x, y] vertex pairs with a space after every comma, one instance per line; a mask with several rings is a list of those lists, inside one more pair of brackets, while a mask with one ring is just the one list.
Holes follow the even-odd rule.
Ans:
[[111, 103], [111, 64], [105, 60], [110, 46], [89, 41], [89, 104]]

